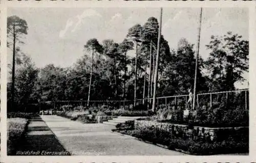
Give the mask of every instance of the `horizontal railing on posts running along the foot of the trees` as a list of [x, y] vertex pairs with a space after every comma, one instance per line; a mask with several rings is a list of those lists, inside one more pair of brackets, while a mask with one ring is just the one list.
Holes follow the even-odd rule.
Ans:
[[[238, 99], [240, 101], [236, 102], [237, 105], [241, 105], [241, 107], [245, 107], [248, 109], [249, 103], [249, 89], [239, 89], [239, 90], [231, 90], [231, 91], [219, 91], [219, 92], [206, 92], [196, 95], [196, 105], [197, 107], [202, 107], [203, 105], [209, 105], [210, 107], [213, 103], [221, 102], [221, 99], [225, 98], [226, 101], [233, 100], [235, 97], [232, 94], [245, 92], [244, 95], [240, 95]], [[226, 94], [226, 96], [224, 96]], [[157, 97], [156, 107], [157, 108], [172, 108], [174, 106], [184, 106], [191, 108], [191, 103], [188, 102], [189, 95], [177, 95], [177, 96], [165, 96], [165, 97]], [[232, 99], [233, 98], [233, 99]], [[241, 98], [243, 100], [241, 100]], [[114, 108], [123, 108], [123, 109], [131, 109], [133, 108], [134, 101], [136, 106], [143, 106], [144, 108], [150, 108], [152, 104], [153, 98], [144, 98], [144, 99], [136, 99], [136, 100], [90, 100], [89, 106], [102, 106], [106, 105], [107, 107], [111, 106]], [[67, 105], [68, 108], [72, 105], [72, 107], [78, 106], [87, 106], [86, 100], [73, 100], [73, 101], [41, 101], [39, 102], [39, 107], [44, 105], [50, 105], [52, 108], [60, 108], [63, 105]], [[242, 106], [243, 103], [243, 106]]]

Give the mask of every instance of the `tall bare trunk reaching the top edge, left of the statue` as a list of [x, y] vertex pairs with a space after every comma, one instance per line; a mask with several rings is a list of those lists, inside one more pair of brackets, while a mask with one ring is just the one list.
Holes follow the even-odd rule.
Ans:
[[158, 76], [158, 61], [159, 61], [159, 53], [160, 53], [160, 37], [161, 37], [161, 28], [162, 28], [162, 8], [160, 9], [160, 25], [158, 31], [158, 41], [157, 41], [157, 56], [156, 56], [156, 67], [155, 67], [155, 75], [154, 75], [154, 92], [153, 92], [153, 103], [152, 103], [152, 111], [156, 110], [156, 90], [157, 90], [157, 76]]

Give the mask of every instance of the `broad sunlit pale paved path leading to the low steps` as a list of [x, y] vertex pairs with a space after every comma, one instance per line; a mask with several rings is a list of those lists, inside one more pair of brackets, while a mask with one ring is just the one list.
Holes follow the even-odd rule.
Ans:
[[113, 133], [111, 125], [82, 124], [57, 115], [41, 118], [72, 155], [185, 155]]

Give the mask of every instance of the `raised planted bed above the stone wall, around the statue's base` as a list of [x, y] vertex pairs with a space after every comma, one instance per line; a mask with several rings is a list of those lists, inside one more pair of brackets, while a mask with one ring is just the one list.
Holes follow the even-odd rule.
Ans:
[[189, 111], [187, 117], [184, 116], [184, 110], [160, 109], [157, 115], [147, 119], [149, 121], [157, 121], [162, 123], [182, 124], [189, 126], [202, 127], [248, 127], [249, 126], [249, 110], [243, 109], [227, 109], [219, 107], [215, 109], [199, 109], [193, 115], [193, 111]]

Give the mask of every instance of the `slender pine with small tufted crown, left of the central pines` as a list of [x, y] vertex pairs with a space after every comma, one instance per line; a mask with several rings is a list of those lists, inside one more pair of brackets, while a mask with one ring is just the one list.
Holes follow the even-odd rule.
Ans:
[[96, 38], [92, 38], [92, 39], [87, 41], [86, 45], [84, 45], [84, 48], [87, 51], [92, 51], [92, 66], [91, 66], [90, 84], [89, 84], [88, 101], [87, 101], [87, 106], [89, 106], [91, 84], [92, 84], [92, 74], [93, 74], [93, 56], [94, 56], [94, 51], [96, 53], [102, 53], [102, 45], [99, 44], [99, 42], [98, 42], [98, 40]]

